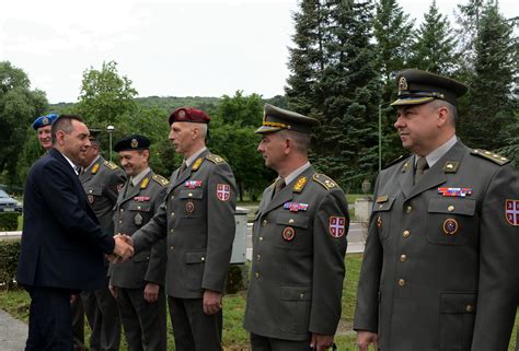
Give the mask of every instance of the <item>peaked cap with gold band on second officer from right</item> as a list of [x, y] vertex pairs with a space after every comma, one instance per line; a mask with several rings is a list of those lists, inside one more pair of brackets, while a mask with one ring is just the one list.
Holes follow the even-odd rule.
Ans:
[[287, 129], [310, 134], [312, 132], [312, 127], [318, 124], [319, 121], [315, 118], [265, 104], [263, 124], [256, 132], [264, 133]]

